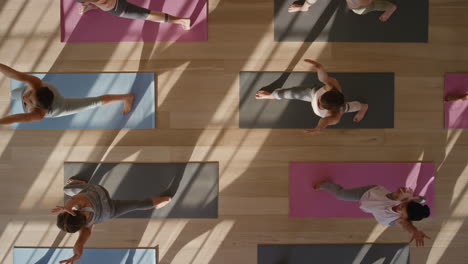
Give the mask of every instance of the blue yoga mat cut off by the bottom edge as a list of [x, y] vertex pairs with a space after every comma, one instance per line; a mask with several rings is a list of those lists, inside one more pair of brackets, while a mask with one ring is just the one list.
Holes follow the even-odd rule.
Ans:
[[[73, 248], [14, 248], [13, 264], [56, 264], [71, 258]], [[156, 264], [155, 248], [85, 248], [74, 264]]]

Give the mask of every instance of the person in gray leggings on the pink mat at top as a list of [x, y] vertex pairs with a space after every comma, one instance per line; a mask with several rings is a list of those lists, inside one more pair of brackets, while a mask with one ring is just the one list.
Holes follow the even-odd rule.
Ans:
[[127, 0], [75, 0], [81, 3], [80, 14], [89, 10], [101, 9], [114, 16], [129, 19], [148, 20], [156, 23], [174, 23], [182, 26], [183, 29], [190, 29], [190, 18], [179, 18], [166, 13], [152, 11], [141, 6], [127, 2]]

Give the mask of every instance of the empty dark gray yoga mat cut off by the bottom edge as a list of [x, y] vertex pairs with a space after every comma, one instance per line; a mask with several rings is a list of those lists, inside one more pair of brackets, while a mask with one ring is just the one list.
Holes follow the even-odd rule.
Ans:
[[257, 264], [408, 264], [408, 244], [258, 245]]

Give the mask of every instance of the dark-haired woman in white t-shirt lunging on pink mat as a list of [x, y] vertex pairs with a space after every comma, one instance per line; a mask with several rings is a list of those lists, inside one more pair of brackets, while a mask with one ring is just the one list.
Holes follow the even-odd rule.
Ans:
[[398, 224], [413, 234], [410, 242], [415, 240], [416, 246], [424, 246], [424, 238], [429, 238], [418, 230], [412, 221], [428, 217], [431, 214], [430, 208], [422, 205], [424, 197], [414, 196], [410, 188], [400, 187], [394, 192], [379, 185], [343, 189], [342, 186], [330, 181], [315, 184], [313, 188], [329, 191], [339, 200], [359, 201], [361, 210], [372, 214], [380, 224], [386, 226]]

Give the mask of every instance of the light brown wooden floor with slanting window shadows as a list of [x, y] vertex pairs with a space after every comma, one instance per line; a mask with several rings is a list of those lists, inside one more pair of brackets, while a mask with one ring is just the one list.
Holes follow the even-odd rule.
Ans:
[[[0, 62], [27, 72], [151, 71], [154, 130], [0, 130], [0, 262], [13, 246], [73, 246], [55, 226], [64, 161], [219, 161], [219, 218], [111, 220], [88, 247], [159, 246], [160, 263], [254, 264], [259, 243], [407, 242], [374, 219], [289, 219], [289, 161], [433, 161], [432, 240], [411, 263], [468, 263], [468, 133], [443, 129], [443, 75], [468, 72], [468, 2], [431, 0], [429, 43], [273, 42], [273, 1], [209, 0], [204, 43], [60, 43], [58, 0], [0, 1]], [[402, 30], [404, 30], [402, 28]], [[395, 72], [395, 128], [238, 128], [239, 71]], [[0, 112], [8, 80], [0, 77]], [[312, 262], [311, 262], [312, 263]]]

